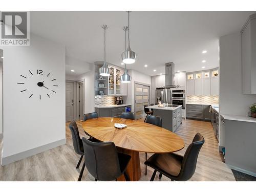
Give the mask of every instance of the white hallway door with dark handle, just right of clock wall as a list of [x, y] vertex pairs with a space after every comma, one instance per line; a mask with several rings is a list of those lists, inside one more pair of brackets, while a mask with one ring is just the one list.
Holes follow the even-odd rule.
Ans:
[[66, 122], [74, 120], [74, 83], [66, 82]]

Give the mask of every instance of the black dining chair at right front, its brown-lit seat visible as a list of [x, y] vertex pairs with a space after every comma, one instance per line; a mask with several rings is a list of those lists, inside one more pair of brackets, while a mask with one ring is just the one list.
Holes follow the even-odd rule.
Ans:
[[195, 173], [198, 154], [204, 144], [204, 137], [197, 133], [192, 143], [187, 147], [184, 156], [174, 153], [154, 154], [145, 165], [154, 168], [154, 173], [150, 181], [154, 181], [156, 173], [159, 172], [159, 178], [162, 175], [170, 178], [172, 181], [187, 181]]

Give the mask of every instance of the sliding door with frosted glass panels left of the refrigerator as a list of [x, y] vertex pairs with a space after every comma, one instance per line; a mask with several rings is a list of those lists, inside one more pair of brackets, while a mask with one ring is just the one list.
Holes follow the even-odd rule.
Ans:
[[134, 113], [135, 120], [143, 118], [144, 105], [150, 103], [150, 86], [143, 83], [134, 84]]

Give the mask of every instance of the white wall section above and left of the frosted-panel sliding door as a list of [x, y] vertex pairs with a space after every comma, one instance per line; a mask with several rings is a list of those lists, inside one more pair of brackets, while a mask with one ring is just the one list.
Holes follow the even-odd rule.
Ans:
[[136, 81], [151, 85], [151, 76], [145, 75], [136, 70], [129, 70], [128, 73], [132, 76], [132, 82], [128, 84], [126, 103], [132, 103], [132, 112], [134, 112], [134, 82]]

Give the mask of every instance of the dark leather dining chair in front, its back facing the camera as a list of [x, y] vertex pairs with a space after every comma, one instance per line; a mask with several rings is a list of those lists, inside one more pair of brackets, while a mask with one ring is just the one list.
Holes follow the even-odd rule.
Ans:
[[112, 181], [121, 175], [130, 181], [126, 173], [130, 155], [118, 153], [113, 142], [96, 143], [83, 137], [82, 143], [86, 167], [95, 181]]

